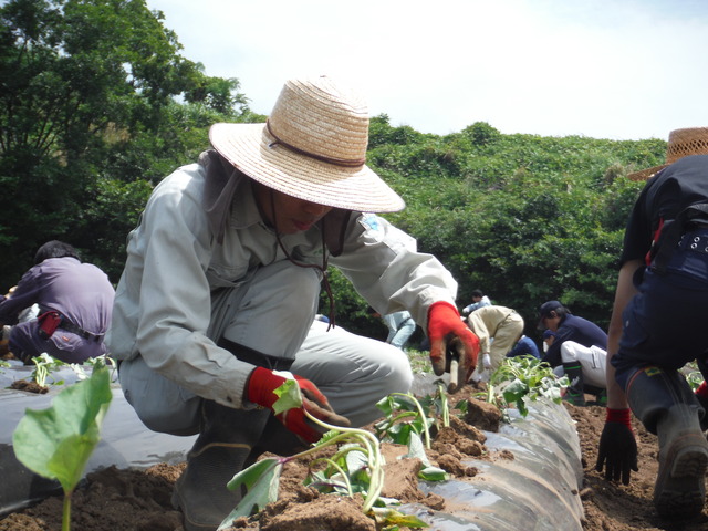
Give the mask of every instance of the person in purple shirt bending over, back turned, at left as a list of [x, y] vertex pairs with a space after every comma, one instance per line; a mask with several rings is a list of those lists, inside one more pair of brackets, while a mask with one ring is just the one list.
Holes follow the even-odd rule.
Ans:
[[[11, 295], [0, 295], [0, 323], [13, 325], [10, 351], [25, 364], [43, 352], [66, 363], [105, 354], [103, 337], [114, 296], [108, 277], [82, 263], [71, 244], [44, 243], [34, 256], [34, 267]], [[39, 316], [18, 323], [20, 313], [33, 304], [39, 306]]]

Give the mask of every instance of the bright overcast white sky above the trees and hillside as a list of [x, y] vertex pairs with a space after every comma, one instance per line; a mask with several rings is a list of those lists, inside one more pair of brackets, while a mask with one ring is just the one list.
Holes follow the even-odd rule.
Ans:
[[269, 114], [333, 75], [394, 126], [668, 138], [708, 126], [707, 0], [147, 0], [183, 54]]

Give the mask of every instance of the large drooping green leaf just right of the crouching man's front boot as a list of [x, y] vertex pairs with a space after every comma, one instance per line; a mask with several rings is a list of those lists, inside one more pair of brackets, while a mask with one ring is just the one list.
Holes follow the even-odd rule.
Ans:
[[238, 472], [227, 483], [229, 490], [240, 489], [246, 486], [247, 494], [238, 506], [229, 513], [217, 531], [231, 527], [233, 520], [239, 517], [250, 517], [260, 511], [268, 503], [278, 499], [278, 487], [282, 471], [282, 460], [271, 457], [254, 462], [244, 470]]

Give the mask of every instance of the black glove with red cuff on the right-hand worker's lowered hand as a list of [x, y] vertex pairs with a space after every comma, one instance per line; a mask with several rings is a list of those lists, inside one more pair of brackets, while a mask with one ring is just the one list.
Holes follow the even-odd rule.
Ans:
[[605, 479], [617, 481], [622, 477], [624, 485], [629, 485], [631, 470], [637, 472], [637, 441], [632, 433], [629, 409], [607, 408], [605, 427], [600, 436], [600, 449], [595, 470], [605, 467]]

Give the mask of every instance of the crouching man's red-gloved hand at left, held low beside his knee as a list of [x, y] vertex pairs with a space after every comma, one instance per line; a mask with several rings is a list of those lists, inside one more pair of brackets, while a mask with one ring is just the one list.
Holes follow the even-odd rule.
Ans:
[[302, 407], [294, 407], [275, 415], [285, 428], [306, 442], [316, 442], [326, 431], [322, 426], [305, 417], [305, 410], [313, 417], [334, 426], [351, 426], [346, 417], [337, 415], [330, 406], [327, 398], [309, 379], [293, 375], [289, 372], [270, 371], [256, 367], [247, 384], [247, 398], [260, 406], [273, 408], [278, 395], [273, 393], [288, 379], [295, 379], [302, 393]]

